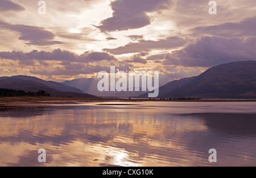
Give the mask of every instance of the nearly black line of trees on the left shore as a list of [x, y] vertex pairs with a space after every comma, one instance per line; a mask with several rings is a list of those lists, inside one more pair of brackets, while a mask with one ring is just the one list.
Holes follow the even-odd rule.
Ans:
[[24, 92], [23, 90], [13, 90], [0, 88], [1, 97], [20, 97], [20, 96], [30, 96], [30, 97], [50, 97], [49, 93], [44, 90], [39, 90], [38, 92]]

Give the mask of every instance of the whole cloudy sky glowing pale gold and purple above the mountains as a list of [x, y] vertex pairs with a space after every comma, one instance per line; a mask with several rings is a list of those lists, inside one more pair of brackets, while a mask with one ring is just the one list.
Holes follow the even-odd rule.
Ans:
[[256, 60], [256, 1], [0, 0], [0, 76], [64, 81], [159, 71], [160, 85]]

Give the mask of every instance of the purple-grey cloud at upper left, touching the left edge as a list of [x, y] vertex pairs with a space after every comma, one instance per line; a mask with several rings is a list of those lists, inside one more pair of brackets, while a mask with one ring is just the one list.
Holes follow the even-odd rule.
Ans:
[[61, 44], [61, 42], [53, 40], [55, 38], [55, 35], [52, 32], [47, 31], [42, 27], [26, 26], [22, 24], [10, 24], [2, 21], [0, 21], [0, 27], [18, 32], [20, 35], [20, 40], [28, 41], [28, 43], [26, 44]]

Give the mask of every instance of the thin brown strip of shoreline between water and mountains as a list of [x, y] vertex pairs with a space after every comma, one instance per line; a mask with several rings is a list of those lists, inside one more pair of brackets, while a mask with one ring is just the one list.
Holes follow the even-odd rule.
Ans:
[[121, 98], [60, 98], [60, 97], [0, 97], [0, 109], [39, 107], [44, 105], [69, 105], [88, 102], [256, 102], [256, 99], [202, 99], [202, 100], [160, 100]]

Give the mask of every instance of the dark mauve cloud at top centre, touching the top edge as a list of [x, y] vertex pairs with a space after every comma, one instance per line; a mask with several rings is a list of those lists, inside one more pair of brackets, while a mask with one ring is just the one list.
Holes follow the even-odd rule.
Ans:
[[113, 16], [98, 26], [102, 32], [141, 28], [150, 24], [146, 12], [166, 8], [170, 0], [117, 0], [111, 3]]

